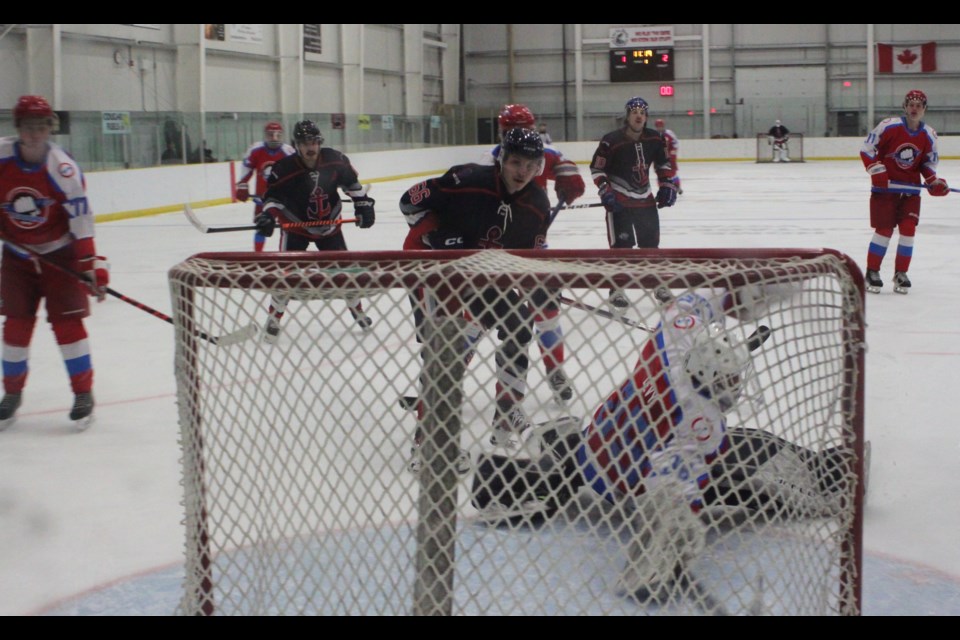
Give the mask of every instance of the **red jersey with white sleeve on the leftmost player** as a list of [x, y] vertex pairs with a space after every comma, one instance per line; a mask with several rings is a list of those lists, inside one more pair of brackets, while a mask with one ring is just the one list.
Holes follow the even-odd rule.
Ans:
[[37, 164], [20, 156], [18, 138], [0, 138], [0, 235], [40, 254], [94, 236], [93, 211], [80, 167], [48, 143]]

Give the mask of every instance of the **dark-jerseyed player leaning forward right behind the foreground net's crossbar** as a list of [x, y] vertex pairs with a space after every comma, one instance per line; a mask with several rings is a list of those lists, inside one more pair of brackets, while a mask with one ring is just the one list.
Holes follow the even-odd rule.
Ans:
[[[400, 198], [400, 211], [410, 229], [403, 248], [539, 249], [546, 241], [550, 203], [534, 178], [543, 170], [543, 142], [536, 131], [511, 129], [503, 137], [497, 164], [451, 167], [444, 175], [420, 182]], [[417, 339], [425, 314], [435, 301], [414, 300]], [[533, 338], [531, 311], [516, 290], [505, 295], [484, 289], [466, 301], [465, 313], [484, 330], [496, 329], [497, 385], [493, 419], [495, 446], [514, 447], [530, 421], [523, 410], [527, 345]], [[443, 306], [443, 305], [441, 305]], [[451, 310], [448, 310], [451, 311]], [[418, 409], [419, 414], [419, 409]], [[419, 468], [414, 438], [414, 460]]]

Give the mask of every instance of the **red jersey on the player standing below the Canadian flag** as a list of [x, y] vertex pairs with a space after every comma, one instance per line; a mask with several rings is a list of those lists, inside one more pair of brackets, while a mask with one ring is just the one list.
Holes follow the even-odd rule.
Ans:
[[[882, 120], [871, 131], [863, 146], [860, 159], [870, 172], [870, 167], [883, 164], [889, 180], [920, 184], [937, 175], [940, 154], [937, 151], [937, 132], [920, 123], [916, 130], [907, 126], [905, 117]], [[891, 187], [885, 192], [896, 192]], [[902, 193], [915, 194], [916, 189], [903, 189]]]

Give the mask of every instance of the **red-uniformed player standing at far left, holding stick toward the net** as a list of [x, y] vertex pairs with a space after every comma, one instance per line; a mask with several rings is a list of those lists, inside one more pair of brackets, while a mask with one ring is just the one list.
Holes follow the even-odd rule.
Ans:
[[[70, 419], [78, 428], [93, 415], [93, 365], [83, 318], [88, 295], [102, 301], [109, 282], [94, 245], [94, 219], [80, 167], [50, 142], [58, 119], [42, 96], [26, 95], [13, 108], [17, 136], [0, 139], [0, 235], [32, 253], [5, 245], [0, 267], [3, 325], [3, 387], [0, 428], [20, 407], [29, 373], [30, 342], [40, 300], [63, 356], [74, 393]], [[38, 260], [39, 254], [44, 260]], [[52, 262], [81, 272], [81, 282]]]

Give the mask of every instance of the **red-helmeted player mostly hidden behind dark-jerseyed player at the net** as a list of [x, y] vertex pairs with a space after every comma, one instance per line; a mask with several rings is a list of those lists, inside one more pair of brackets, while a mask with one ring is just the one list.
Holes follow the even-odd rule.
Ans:
[[[534, 131], [536, 119], [533, 112], [522, 104], [508, 104], [500, 110], [497, 118], [500, 127], [500, 136], [515, 128]], [[543, 136], [541, 136], [541, 140]], [[496, 158], [500, 153], [500, 145], [490, 152], [485, 161]], [[547, 190], [547, 181], [554, 181], [554, 190], [557, 202], [570, 204], [583, 195], [585, 185], [577, 165], [564, 157], [559, 149], [552, 145], [544, 145], [543, 173], [534, 178], [544, 191]], [[544, 245], [546, 247], [546, 245]], [[537, 345], [543, 354], [543, 363], [547, 371], [547, 380], [554, 396], [560, 403], [573, 398], [573, 386], [563, 370], [563, 361], [566, 357], [563, 345], [563, 327], [560, 324], [559, 292], [538, 289], [531, 298], [538, 312], [534, 316], [534, 327], [537, 333]]]

